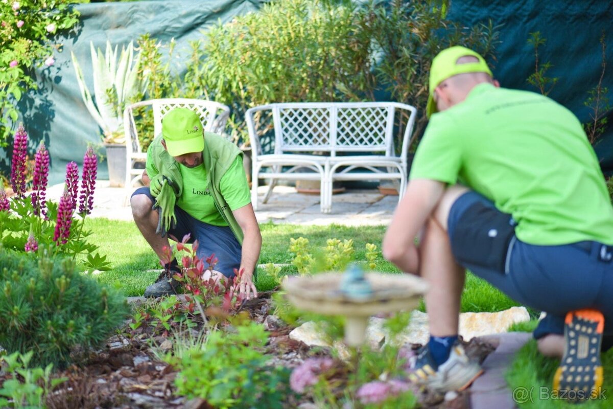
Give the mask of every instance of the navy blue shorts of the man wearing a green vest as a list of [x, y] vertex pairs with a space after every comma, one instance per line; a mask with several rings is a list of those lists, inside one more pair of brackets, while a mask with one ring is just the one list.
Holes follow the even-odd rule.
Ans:
[[[148, 187], [136, 189], [132, 196], [137, 194], [145, 194], [151, 199], [151, 205], [153, 206], [154, 199]], [[177, 216], [177, 226], [170, 229], [169, 235], [181, 241], [183, 236], [189, 233], [189, 243], [198, 240], [196, 255], [204, 260], [215, 253], [215, 257], [219, 259], [215, 270], [228, 278], [233, 278], [234, 269], [240, 268], [242, 248], [230, 227], [213, 226], [204, 223], [204, 221], [196, 220], [178, 206], [175, 206], [175, 215]], [[205, 264], [205, 267], [208, 266]]]

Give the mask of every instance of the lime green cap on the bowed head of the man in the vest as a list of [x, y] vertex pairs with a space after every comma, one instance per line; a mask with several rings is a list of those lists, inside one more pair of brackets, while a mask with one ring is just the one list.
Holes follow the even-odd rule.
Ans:
[[170, 156], [204, 150], [204, 131], [199, 115], [188, 108], [175, 108], [162, 119], [162, 137]]

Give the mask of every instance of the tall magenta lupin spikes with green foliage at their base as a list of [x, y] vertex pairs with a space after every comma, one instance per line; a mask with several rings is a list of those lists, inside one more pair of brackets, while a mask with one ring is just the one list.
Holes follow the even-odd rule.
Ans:
[[[23, 124], [13, 138], [9, 197], [0, 183], [0, 245], [25, 253], [37, 253], [39, 246], [51, 245], [56, 254], [77, 258], [82, 254], [86, 269], [108, 270], [106, 256], [97, 253], [97, 246], [88, 243], [90, 234], [83, 227], [93, 208], [96, 189], [97, 159], [89, 148], [83, 157], [83, 172], [79, 181], [78, 165], [66, 166], [64, 194], [55, 204], [47, 200], [49, 153], [40, 144], [34, 155], [32, 183], [26, 182], [28, 133]], [[79, 189], [80, 186], [80, 189]]]

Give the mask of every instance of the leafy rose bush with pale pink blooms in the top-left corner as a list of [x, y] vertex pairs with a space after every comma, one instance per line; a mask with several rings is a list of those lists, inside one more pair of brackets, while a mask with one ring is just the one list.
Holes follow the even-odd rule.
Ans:
[[74, 0], [0, 1], [0, 146], [6, 146], [17, 102], [36, 90], [34, 67], [53, 66], [61, 44], [55, 35], [78, 23]]

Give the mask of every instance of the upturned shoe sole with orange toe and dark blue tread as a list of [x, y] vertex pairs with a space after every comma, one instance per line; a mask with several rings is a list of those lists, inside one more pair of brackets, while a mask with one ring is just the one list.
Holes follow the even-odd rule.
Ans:
[[566, 314], [564, 356], [554, 375], [554, 390], [568, 400], [595, 399], [603, 385], [600, 347], [604, 316], [596, 310], [578, 310]]

